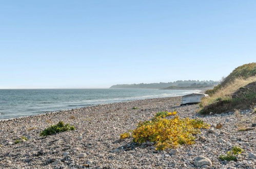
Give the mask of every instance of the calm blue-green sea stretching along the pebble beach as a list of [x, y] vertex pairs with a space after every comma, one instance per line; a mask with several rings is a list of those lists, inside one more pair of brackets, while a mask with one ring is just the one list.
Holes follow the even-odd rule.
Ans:
[[0, 119], [145, 98], [173, 97], [194, 90], [21, 89], [0, 90]]

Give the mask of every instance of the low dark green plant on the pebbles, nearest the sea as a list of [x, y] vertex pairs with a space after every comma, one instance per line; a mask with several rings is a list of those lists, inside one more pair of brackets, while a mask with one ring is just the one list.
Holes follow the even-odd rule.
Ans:
[[40, 133], [40, 136], [48, 136], [55, 133], [66, 132], [71, 130], [75, 130], [75, 127], [73, 125], [65, 124], [63, 121], [60, 121], [57, 124], [51, 125], [49, 126], [49, 128], [46, 128], [44, 131]]

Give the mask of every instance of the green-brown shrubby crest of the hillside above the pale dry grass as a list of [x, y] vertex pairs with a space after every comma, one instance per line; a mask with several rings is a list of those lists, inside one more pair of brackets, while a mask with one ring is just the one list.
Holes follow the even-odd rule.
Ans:
[[256, 75], [256, 62], [252, 62], [250, 64], [245, 64], [242, 65], [236, 69], [234, 69], [218, 86], [215, 86], [213, 89], [211, 90], [207, 90], [205, 92], [205, 94], [208, 95], [213, 95], [215, 94], [218, 90], [224, 88], [225, 86], [227, 86], [230, 82], [232, 82], [233, 80], [237, 79], [237, 78], [248, 78], [251, 76], [255, 76]]

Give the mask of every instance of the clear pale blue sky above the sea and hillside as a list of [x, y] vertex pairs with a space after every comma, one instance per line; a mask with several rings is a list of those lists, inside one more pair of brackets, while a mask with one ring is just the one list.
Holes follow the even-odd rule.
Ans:
[[256, 1], [0, 1], [0, 88], [219, 80], [256, 61]]

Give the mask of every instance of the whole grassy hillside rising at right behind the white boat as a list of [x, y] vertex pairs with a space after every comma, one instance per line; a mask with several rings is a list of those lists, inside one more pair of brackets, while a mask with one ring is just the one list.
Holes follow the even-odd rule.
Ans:
[[201, 114], [253, 108], [256, 105], [256, 63], [236, 68], [220, 85], [205, 93], [210, 97], [202, 99]]

